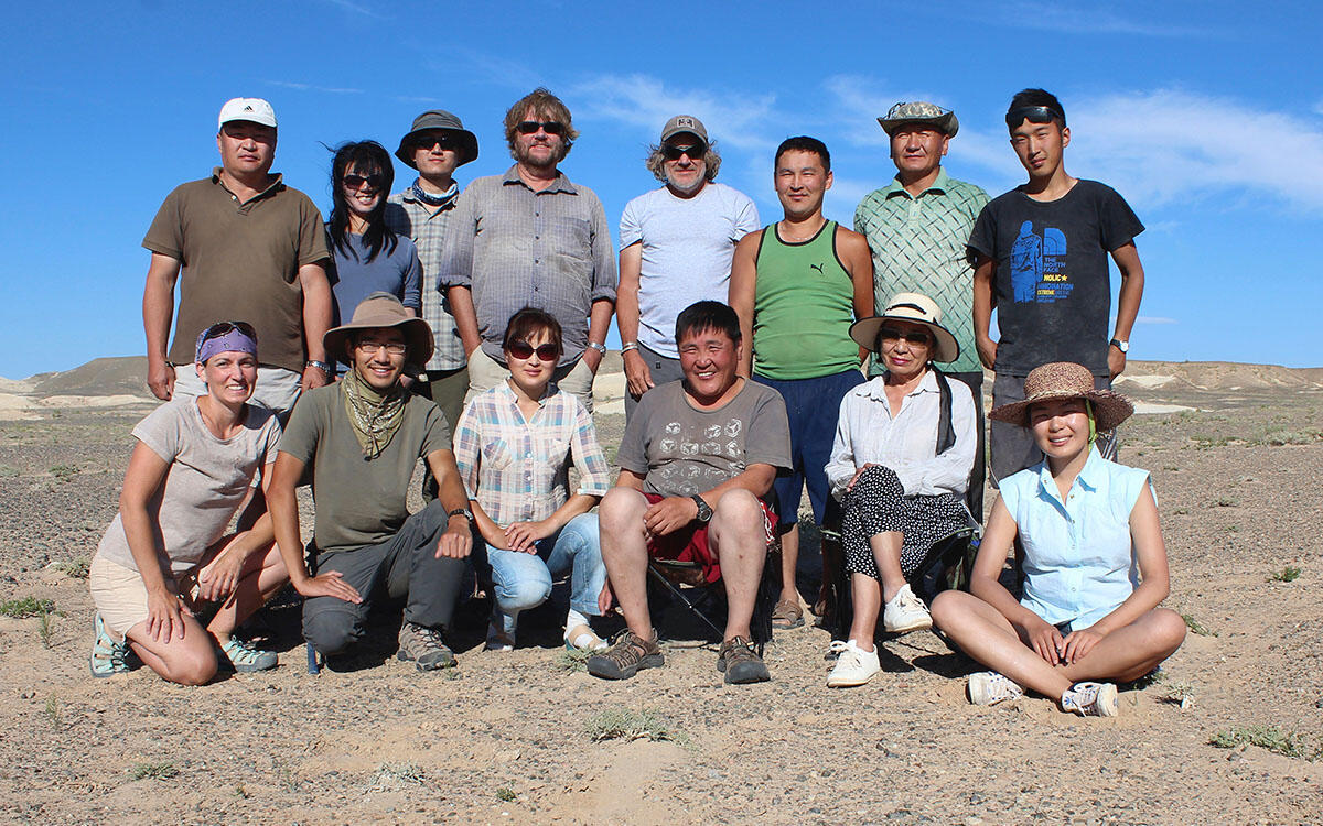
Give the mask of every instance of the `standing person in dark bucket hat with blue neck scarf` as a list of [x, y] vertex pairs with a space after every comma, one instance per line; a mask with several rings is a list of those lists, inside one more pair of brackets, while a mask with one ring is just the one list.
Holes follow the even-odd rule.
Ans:
[[[478, 157], [478, 137], [456, 115], [429, 110], [417, 118], [404, 137], [396, 157], [418, 177], [386, 200], [385, 223], [396, 235], [410, 238], [422, 266], [419, 292], [422, 317], [431, 328], [433, 352], [425, 362], [413, 365], [417, 379], [410, 389], [431, 399], [454, 428], [468, 391], [468, 354], [450, 312], [446, 288], [439, 285], [442, 255], [451, 218], [459, 202], [455, 170]], [[423, 501], [437, 496], [437, 480], [423, 474]]]

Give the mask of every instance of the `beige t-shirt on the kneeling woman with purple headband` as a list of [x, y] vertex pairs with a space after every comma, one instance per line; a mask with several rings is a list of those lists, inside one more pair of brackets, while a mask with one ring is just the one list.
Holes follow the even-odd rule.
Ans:
[[[169, 464], [160, 488], [147, 501], [147, 514], [157, 554], [164, 550], [171, 571], [179, 575], [225, 535], [249, 488], [255, 488], [263, 468], [275, 461], [280, 424], [270, 410], [249, 404], [243, 430], [230, 439], [217, 439], [202, 422], [197, 398], [181, 396], [147, 414], [134, 436]], [[97, 552], [138, 570], [119, 514]]]

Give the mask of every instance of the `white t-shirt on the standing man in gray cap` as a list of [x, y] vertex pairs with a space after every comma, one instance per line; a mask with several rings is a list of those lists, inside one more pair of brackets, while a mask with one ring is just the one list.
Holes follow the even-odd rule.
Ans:
[[679, 358], [675, 317], [695, 301], [726, 301], [736, 244], [758, 226], [749, 196], [725, 184], [706, 184], [692, 198], [662, 186], [626, 204], [620, 248], [643, 244], [639, 344]]

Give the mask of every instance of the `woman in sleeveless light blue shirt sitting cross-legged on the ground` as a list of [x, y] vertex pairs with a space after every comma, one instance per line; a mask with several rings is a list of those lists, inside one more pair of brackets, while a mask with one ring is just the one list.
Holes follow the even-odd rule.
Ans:
[[[1158, 607], [1168, 591], [1167, 548], [1148, 472], [1094, 447], [1134, 407], [1094, 390], [1088, 367], [1069, 362], [1033, 370], [1024, 390], [1023, 402], [988, 415], [1031, 430], [1044, 460], [1002, 482], [971, 593], [938, 595], [933, 616], [966, 654], [995, 669], [970, 675], [970, 702], [1016, 699], [1028, 687], [1060, 698], [1062, 711], [1115, 716], [1114, 682], [1143, 677], [1185, 638], [1180, 615]], [[1019, 603], [998, 583], [1016, 537]]]

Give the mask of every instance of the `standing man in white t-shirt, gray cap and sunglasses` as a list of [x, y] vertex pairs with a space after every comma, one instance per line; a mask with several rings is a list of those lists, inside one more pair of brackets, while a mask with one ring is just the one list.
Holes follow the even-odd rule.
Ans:
[[681, 378], [676, 316], [697, 300], [726, 299], [736, 244], [758, 229], [753, 200], [714, 181], [720, 167], [703, 122], [676, 115], [647, 157], [648, 172], [665, 186], [624, 205], [615, 315], [626, 416], [644, 393]]

